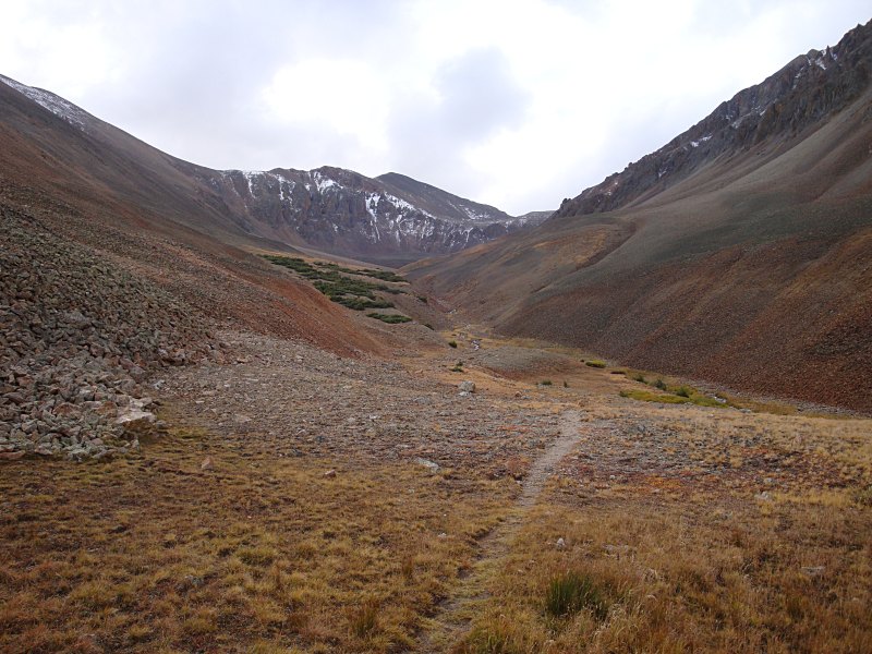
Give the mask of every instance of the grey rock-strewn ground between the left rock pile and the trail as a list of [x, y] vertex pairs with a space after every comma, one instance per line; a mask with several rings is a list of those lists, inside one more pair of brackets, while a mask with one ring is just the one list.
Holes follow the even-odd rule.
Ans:
[[519, 473], [525, 457], [558, 431], [553, 408], [505, 395], [461, 395], [462, 376], [453, 384], [435, 380], [438, 360], [422, 360], [431, 370], [415, 374], [299, 341], [251, 332], [222, 338], [239, 353], [232, 365], [180, 368], [155, 385], [180, 419], [240, 448], [358, 461], [421, 458], [500, 475]]

